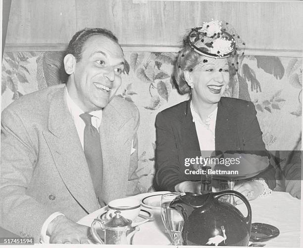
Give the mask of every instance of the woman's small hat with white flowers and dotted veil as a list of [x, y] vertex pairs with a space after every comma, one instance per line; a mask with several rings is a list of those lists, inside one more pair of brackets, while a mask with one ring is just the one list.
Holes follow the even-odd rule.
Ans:
[[[226, 22], [226, 25], [228, 23]], [[202, 27], [193, 28], [188, 35], [190, 46], [198, 53], [208, 57], [226, 58], [236, 54], [237, 34], [229, 34], [222, 28], [222, 21], [204, 22]], [[245, 43], [243, 43], [245, 45]]]

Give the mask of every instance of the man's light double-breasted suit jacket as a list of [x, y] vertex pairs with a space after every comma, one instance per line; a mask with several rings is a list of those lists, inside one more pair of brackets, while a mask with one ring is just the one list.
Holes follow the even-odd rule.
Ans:
[[[0, 225], [35, 242], [51, 213], [77, 221], [100, 207], [65, 89], [25, 95], [2, 111]], [[102, 110], [104, 204], [125, 197], [128, 180], [136, 180], [138, 125], [138, 109], [124, 99]]]

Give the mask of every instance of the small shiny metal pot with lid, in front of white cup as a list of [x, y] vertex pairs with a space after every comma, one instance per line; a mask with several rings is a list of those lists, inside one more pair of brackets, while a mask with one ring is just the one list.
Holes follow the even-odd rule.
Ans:
[[[97, 233], [96, 224], [101, 226], [104, 232], [104, 242]], [[102, 245], [132, 245], [132, 239], [139, 227], [132, 227], [132, 221], [124, 218], [120, 211], [115, 211], [110, 219], [94, 219], [92, 233], [96, 241]]]

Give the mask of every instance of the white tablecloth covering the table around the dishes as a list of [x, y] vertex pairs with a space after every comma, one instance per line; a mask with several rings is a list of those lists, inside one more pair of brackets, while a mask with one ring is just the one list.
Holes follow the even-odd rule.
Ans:
[[[152, 193], [140, 194], [132, 198], [143, 199]], [[159, 192], [157, 193], [159, 194]], [[273, 192], [271, 196], [250, 201], [252, 207], [252, 223], [261, 222], [273, 225], [280, 230], [280, 235], [264, 242], [266, 247], [300, 247], [301, 200], [288, 193]], [[246, 216], [244, 204], [237, 207]], [[91, 226], [94, 218], [104, 211], [101, 208], [81, 220], [79, 224]], [[140, 231], [134, 236], [134, 245], [168, 245], [169, 236], [164, 233], [164, 225], [158, 210], [152, 211], [155, 221], [140, 225]]]

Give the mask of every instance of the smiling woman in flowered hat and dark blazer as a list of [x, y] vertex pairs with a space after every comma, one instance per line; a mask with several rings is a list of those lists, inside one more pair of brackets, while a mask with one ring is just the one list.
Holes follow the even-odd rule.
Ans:
[[[225, 30], [219, 21], [204, 23], [190, 32], [179, 51], [173, 76], [180, 93], [190, 92], [191, 99], [156, 117], [155, 181], [160, 190], [200, 193], [201, 175], [190, 172], [195, 167], [191, 158], [212, 151], [267, 154], [253, 103], [222, 97], [230, 76], [227, 57], [237, 50], [235, 35]], [[239, 181], [234, 190], [254, 199], [274, 187], [275, 171], [270, 169], [258, 179]]]

